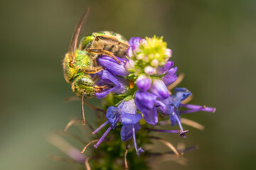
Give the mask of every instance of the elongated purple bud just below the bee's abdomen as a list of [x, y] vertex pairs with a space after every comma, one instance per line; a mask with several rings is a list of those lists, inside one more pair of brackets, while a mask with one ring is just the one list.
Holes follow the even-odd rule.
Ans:
[[[121, 60], [118, 57], [117, 57], [117, 59]], [[122, 77], [126, 77], [129, 74], [129, 72], [127, 72], [124, 69], [124, 63], [121, 62], [121, 64], [119, 64], [112, 57], [108, 57], [108, 56], [103, 55], [102, 57], [99, 58], [99, 62], [102, 65], [102, 67], [108, 69], [114, 75], [119, 75], [119, 76], [122, 76]]]

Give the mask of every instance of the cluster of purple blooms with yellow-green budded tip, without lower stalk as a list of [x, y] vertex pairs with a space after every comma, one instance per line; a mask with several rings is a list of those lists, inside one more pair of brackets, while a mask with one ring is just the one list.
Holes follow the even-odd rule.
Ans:
[[[110, 92], [117, 94], [117, 107], [110, 106], [107, 109], [107, 122], [100, 125], [93, 133], [98, 132], [102, 127], [110, 124], [95, 147], [105, 139], [110, 130], [117, 125], [122, 125], [120, 136], [122, 141], [130, 138], [134, 140], [134, 148], [137, 155], [144, 150], [137, 149], [135, 133], [141, 128], [140, 120], [144, 119], [149, 125], [156, 125], [159, 122], [159, 113], [169, 115], [171, 125], [178, 124], [180, 130], [157, 130], [157, 132], [179, 133], [186, 137], [188, 130], [183, 130], [181, 125], [181, 114], [193, 113], [196, 111], [214, 112], [215, 108], [206, 106], [194, 106], [182, 103], [191, 92], [186, 88], [175, 88], [171, 94], [168, 86], [177, 79], [177, 67], [174, 62], [169, 61], [172, 51], [167, 48], [163, 38], [131, 38], [127, 56], [118, 58], [118, 63], [112, 57], [103, 55], [99, 62], [105, 68], [98, 74], [100, 81], [98, 86], [107, 87], [97, 93], [97, 98], [105, 98]], [[120, 96], [122, 96], [120, 98]], [[180, 108], [188, 108], [181, 110]]]

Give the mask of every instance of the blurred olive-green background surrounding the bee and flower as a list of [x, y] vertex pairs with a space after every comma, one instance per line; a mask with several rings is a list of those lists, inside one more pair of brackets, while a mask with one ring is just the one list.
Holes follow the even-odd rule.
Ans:
[[80, 118], [79, 101], [64, 103], [73, 93], [61, 62], [87, 6], [85, 35], [98, 30], [128, 39], [163, 35], [178, 72], [186, 74], [180, 86], [192, 91], [192, 103], [217, 108], [185, 116], [205, 130], [189, 128], [186, 139], [169, 135], [174, 145], [199, 145], [185, 154], [188, 166], [164, 162], [160, 169], [255, 166], [256, 1], [9, 0], [0, 2], [0, 169], [71, 169], [49, 159], [64, 154], [46, 136]]

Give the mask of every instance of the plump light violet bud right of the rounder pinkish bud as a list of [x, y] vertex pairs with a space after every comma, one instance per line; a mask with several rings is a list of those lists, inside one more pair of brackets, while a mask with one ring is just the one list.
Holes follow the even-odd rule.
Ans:
[[151, 88], [149, 89], [149, 91], [152, 94], [159, 97], [160, 99], [165, 99], [165, 98], [169, 97], [169, 91], [168, 91], [166, 85], [164, 84], [164, 82], [161, 81], [160, 79], [153, 80], [153, 84], [152, 84]]

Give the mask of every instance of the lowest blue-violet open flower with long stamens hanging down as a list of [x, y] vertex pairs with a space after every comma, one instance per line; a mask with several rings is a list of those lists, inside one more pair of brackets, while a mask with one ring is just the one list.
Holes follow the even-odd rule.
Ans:
[[120, 132], [121, 140], [127, 141], [133, 137], [134, 147], [137, 151], [137, 155], [139, 156], [141, 152], [144, 152], [141, 147], [137, 149], [135, 133], [141, 128], [139, 120], [142, 119], [142, 115], [139, 113], [137, 114], [137, 107], [135, 106], [134, 99], [130, 99], [129, 101], [122, 101], [118, 107], [111, 106], [107, 109], [106, 117], [107, 122], [103, 123], [99, 128], [92, 132], [95, 134], [105, 125], [110, 124], [110, 127], [95, 144], [96, 148], [105, 139], [110, 130], [116, 128], [117, 122], [120, 122], [122, 124]]

